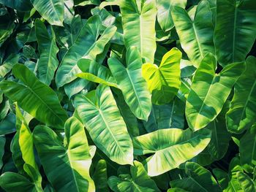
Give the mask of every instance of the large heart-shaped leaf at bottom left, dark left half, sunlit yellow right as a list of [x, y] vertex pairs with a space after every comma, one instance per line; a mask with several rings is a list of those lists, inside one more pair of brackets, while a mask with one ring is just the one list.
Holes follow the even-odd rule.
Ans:
[[47, 126], [36, 126], [33, 136], [45, 174], [56, 191], [94, 191], [89, 174], [92, 157], [78, 119], [66, 121], [64, 145]]

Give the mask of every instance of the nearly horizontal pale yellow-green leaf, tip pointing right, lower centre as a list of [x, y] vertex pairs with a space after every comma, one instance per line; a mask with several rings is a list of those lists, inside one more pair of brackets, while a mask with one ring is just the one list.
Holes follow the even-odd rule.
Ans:
[[195, 157], [208, 145], [211, 132], [207, 129], [192, 132], [189, 128], [159, 129], [133, 139], [135, 155], [154, 153], [143, 161], [148, 175], [156, 176]]

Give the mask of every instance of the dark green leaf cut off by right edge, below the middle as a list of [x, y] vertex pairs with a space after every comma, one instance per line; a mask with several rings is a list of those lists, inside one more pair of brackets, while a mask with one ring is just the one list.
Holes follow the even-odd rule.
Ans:
[[240, 139], [241, 165], [246, 172], [253, 172], [256, 166], [256, 124]]

